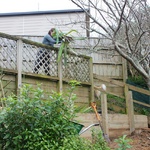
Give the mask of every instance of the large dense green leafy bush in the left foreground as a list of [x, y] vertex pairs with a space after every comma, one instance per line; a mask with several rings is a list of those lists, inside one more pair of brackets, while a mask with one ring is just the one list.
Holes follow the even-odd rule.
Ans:
[[[101, 139], [92, 144], [79, 137], [72, 122], [76, 115], [72, 107], [76, 84], [71, 83], [70, 94], [53, 93], [45, 101], [43, 90], [30, 85], [23, 86], [19, 97], [9, 96], [6, 107], [0, 110], [0, 149], [96, 150], [94, 146], [101, 147]], [[102, 149], [105, 150], [105, 145]]]

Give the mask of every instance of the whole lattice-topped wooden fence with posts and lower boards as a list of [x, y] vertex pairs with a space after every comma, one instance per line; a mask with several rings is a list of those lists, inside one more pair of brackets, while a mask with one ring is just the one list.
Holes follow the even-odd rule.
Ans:
[[[38, 73], [34, 73], [37, 54], [41, 50], [46, 52], [45, 59], [49, 59], [50, 63], [44, 68], [44, 61], [39, 60], [41, 68]], [[57, 61], [57, 56], [58, 48], [0, 33], [1, 91], [6, 87], [3, 89], [4, 92], [10, 94], [19, 92], [22, 84], [37, 86], [43, 83], [42, 88], [47, 92], [52, 90], [61, 92], [67, 88], [70, 80], [77, 80], [82, 85], [82, 88], [78, 88], [80, 90], [76, 90], [77, 96], [79, 95], [77, 103], [89, 105], [94, 97], [92, 58], [68, 51], [67, 64], [65, 64], [64, 55], [60, 61]]]

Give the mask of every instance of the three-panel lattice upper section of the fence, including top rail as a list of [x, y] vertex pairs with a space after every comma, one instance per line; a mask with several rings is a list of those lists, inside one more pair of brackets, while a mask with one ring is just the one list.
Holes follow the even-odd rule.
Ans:
[[[58, 48], [33, 42], [17, 36], [0, 33], [0, 68], [20, 70], [22, 73], [38, 73], [62, 78], [91, 82], [91, 57], [77, 55], [68, 50], [67, 64], [62, 56], [57, 61]], [[45, 63], [47, 61], [47, 63]], [[39, 68], [40, 67], [40, 68]]]

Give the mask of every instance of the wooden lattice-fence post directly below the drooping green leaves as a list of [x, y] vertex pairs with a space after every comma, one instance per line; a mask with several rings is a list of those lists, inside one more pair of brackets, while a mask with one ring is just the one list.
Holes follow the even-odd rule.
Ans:
[[62, 92], [63, 90], [63, 81], [62, 81], [62, 58], [58, 62], [58, 92]]

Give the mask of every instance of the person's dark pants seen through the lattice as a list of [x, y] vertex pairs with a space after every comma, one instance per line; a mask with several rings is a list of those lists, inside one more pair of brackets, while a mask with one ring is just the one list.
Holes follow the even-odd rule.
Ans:
[[37, 53], [37, 59], [35, 61], [35, 67], [34, 67], [33, 72], [38, 73], [41, 66], [43, 66], [45, 74], [50, 75], [49, 64], [50, 64], [50, 54], [49, 54], [49, 52], [47, 52], [44, 49], [40, 50]]

